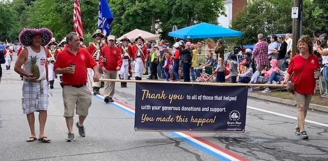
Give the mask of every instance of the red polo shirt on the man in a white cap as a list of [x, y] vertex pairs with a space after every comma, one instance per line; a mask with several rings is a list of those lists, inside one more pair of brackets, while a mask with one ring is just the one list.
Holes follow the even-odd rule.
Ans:
[[[105, 67], [106, 70], [116, 71], [117, 66], [122, 66], [121, 50], [116, 46], [110, 48], [105, 46], [101, 48], [102, 58], [99, 59], [99, 66]], [[104, 61], [104, 62], [103, 62]]]

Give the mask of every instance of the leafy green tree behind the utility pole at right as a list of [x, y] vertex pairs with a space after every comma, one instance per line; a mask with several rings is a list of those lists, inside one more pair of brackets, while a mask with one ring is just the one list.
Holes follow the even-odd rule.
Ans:
[[[326, 0], [303, 0], [302, 33], [312, 36], [319, 30], [327, 32], [328, 10]], [[317, 5], [317, 4], [324, 5]], [[233, 39], [236, 44], [253, 44], [257, 34], [292, 33], [292, 0], [254, 0], [239, 12], [231, 27], [243, 33], [242, 39]]]

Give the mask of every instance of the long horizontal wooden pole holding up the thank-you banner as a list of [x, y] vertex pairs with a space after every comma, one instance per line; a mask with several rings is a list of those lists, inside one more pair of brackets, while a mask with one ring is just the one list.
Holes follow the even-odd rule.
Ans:
[[125, 79], [99, 79], [103, 82], [127, 82], [127, 83], [163, 83], [163, 84], [191, 84], [191, 85], [207, 85], [207, 86], [254, 86], [254, 87], [282, 87], [287, 85], [281, 84], [251, 84], [251, 83], [203, 83], [203, 82], [168, 82], [168, 81], [139, 81], [139, 80], [125, 80]]

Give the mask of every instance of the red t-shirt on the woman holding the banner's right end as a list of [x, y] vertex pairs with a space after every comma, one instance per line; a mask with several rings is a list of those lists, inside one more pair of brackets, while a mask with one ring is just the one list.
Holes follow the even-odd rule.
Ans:
[[301, 57], [300, 55], [296, 55], [291, 60], [287, 70], [289, 74], [294, 72], [292, 75], [292, 82], [295, 83], [295, 91], [302, 95], [313, 94], [314, 88], [316, 87], [314, 70], [320, 68], [319, 60], [317, 56], [313, 54], [309, 56], [306, 64], [305, 62], [305, 58]]

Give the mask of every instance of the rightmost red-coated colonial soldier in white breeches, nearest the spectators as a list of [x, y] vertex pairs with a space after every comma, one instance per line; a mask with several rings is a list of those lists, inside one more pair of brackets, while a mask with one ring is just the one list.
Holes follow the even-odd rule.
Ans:
[[134, 72], [135, 72], [135, 80], [141, 80], [142, 78], [142, 70], [145, 62], [147, 62], [148, 51], [146, 45], [143, 44], [145, 41], [141, 35], [134, 39], [136, 44], [132, 45], [132, 59], [134, 62]]

